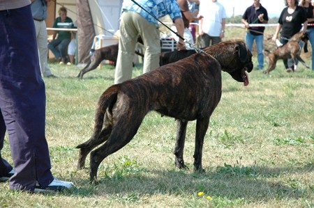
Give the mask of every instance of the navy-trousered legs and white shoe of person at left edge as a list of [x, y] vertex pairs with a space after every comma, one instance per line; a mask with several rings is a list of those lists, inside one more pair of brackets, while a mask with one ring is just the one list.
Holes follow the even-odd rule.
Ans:
[[45, 83], [40, 76], [29, 0], [0, 1], [0, 150], [8, 131], [14, 169], [1, 158], [10, 189], [46, 191], [73, 184], [55, 179], [45, 138]]

